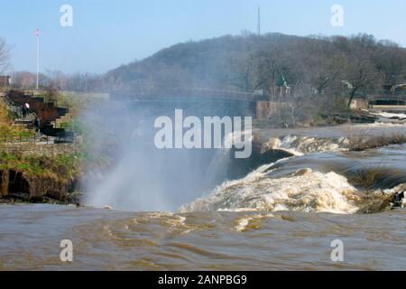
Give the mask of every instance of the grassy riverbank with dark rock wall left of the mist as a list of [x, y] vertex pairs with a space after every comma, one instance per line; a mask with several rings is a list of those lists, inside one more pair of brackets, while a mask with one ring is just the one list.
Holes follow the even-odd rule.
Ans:
[[[18, 93], [20, 92], [14, 92]], [[39, 97], [35, 99], [38, 103], [43, 103]], [[49, 107], [55, 111], [60, 109], [54, 108], [53, 105]], [[57, 126], [73, 122], [76, 115], [72, 112], [76, 111], [76, 107], [68, 114], [64, 113], [62, 118], [59, 114], [55, 115], [52, 127], [58, 130], [60, 128]], [[32, 121], [21, 115], [20, 109], [8, 95], [2, 96], [0, 202], [78, 203], [80, 201], [78, 191], [81, 190], [80, 180], [84, 170], [82, 142], [78, 142], [77, 137], [75, 142], [60, 143], [57, 142], [57, 137], [40, 134], [35, 131]], [[38, 109], [40, 108], [32, 108], [30, 113], [32, 115], [49, 113], [51, 116], [51, 112], [41, 109], [38, 112]], [[68, 111], [64, 109], [64, 112]]]

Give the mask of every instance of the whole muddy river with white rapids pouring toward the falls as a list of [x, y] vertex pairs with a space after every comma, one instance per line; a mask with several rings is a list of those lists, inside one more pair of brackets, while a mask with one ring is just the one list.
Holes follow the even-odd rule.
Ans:
[[[257, 131], [291, 157], [224, 182], [171, 212], [0, 205], [0, 270], [405, 270], [406, 145], [349, 152], [371, 125]], [[73, 262], [60, 261], [60, 241]], [[331, 259], [333, 240], [344, 260]]]

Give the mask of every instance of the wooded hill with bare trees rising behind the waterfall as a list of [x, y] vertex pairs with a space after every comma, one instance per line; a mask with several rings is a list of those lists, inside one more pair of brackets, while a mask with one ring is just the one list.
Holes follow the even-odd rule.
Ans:
[[[223, 36], [165, 48], [110, 70], [100, 90], [195, 87], [296, 94], [374, 93], [406, 80], [406, 50], [372, 35], [299, 37], [280, 33]], [[343, 84], [346, 84], [344, 85]]]

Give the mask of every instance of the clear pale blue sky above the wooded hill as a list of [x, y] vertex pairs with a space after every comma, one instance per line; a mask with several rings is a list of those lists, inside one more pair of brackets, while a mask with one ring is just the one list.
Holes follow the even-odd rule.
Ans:
[[[295, 35], [372, 33], [406, 47], [404, 0], [0, 0], [0, 37], [12, 47], [14, 70], [105, 72], [142, 60], [178, 42], [256, 31]], [[73, 8], [73, 27], [60, 26], [60, 6]], [[344, 27], [332, 27], [332, 5], [345, 9]]]

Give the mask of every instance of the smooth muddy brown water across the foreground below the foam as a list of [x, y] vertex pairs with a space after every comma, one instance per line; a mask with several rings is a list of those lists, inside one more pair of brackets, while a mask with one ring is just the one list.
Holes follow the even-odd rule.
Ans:
[[[406, 269], [406, 210], [129, 213], [51, 205], [0, 207], [2, 270]], [[251, 219], [241, 229], [242, 219]], [[60, 240], [73, 262], [60, 261]], [[331, 261], [331, 241], [344, 262]]]

